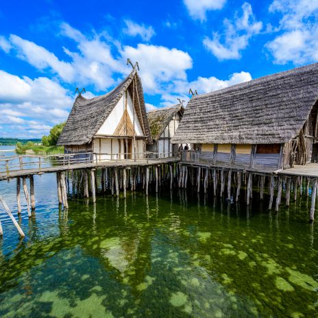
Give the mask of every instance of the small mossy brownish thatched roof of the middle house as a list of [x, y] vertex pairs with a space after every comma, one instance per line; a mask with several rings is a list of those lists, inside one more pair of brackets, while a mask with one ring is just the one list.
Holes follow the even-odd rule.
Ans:
[[147, 113], [151, 137], [153, 140], [159, 139], [165, 127], [167, 127], [169, 122], [178, 112], [181, 112], [181, 114], [184, 113], [184, 107], [181, 104], [175, 105], [171, 108], [152, 110]]

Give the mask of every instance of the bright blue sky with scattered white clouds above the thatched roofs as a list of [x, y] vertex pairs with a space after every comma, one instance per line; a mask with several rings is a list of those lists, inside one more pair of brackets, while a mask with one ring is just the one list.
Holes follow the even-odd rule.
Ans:
[[1, 1], [0, 137], [64, 121], [140, 65], [147, 108], [318, 60], [318, 0]]

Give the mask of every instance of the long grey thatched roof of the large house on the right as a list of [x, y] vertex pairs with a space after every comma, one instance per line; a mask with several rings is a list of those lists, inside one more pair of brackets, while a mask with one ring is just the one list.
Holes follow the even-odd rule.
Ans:
[[285, 143], [318, 99], [318, 63], [194, 96], [173, 143]]

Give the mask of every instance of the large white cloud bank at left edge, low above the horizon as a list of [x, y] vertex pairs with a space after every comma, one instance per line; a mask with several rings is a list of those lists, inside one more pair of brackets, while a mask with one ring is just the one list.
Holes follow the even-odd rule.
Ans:
[[73, 104], [69, 92], [47, 77], [30, 79], [0, 70], [0, 136], [40, 138], [64, 121]]

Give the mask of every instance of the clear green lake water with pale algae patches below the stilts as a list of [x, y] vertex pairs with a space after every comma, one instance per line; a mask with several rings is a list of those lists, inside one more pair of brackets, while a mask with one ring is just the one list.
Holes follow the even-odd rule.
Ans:
[[[310, 199], [280, 213], [175, 190], [69, 199], [35, 176], [21, 241], [0, 218], [0, 317], [318, 317]], [[16, 216], [15, 182], [0, 194]]]

